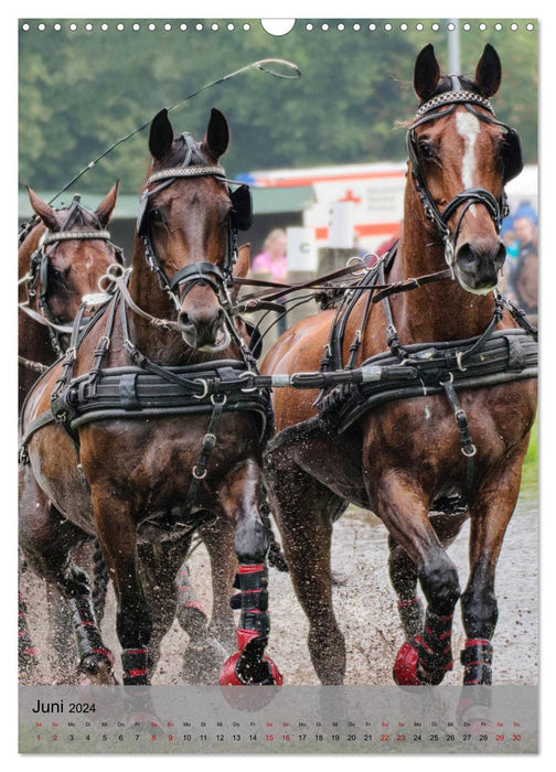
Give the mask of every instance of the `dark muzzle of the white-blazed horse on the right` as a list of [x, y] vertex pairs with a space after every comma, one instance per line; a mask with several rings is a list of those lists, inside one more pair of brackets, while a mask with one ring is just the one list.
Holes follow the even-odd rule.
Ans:
[[458, 247], [455, 256], [458, 281], [468, 292], [487, 294], [498, 283], [505, 254], [501, 239], [466, 242]]

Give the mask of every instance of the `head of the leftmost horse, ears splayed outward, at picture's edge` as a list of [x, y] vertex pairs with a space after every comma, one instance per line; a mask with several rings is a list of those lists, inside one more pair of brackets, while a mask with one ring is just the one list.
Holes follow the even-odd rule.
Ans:
[[68, 324], [83, 300], [98, 293], [98, 279], [117, 259], [106, 227], [116, 205], [118, 183], [95, 212], [82, 206], [79, 196], [67, 208], [55, 210], [31, 187], [28, 192], [41, 221], [38, 249], [29, 268], [31, 291], [39, 296], [52, 321]]

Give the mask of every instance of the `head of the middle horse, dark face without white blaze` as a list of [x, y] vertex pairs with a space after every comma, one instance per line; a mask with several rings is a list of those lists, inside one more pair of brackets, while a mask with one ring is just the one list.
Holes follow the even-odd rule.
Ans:
[[161, 110], [150, 128], [153, 163], [137, 227], [150, 267], [177, 307], [184, 342], [211, 353], [231, 342], [225, 309], [238, 259], [236, 230], [250, 225], [239, 211], [238, 191], [231, 192], [218, 165], [228, 140], [226, 119], [216, 109], [201, 142], [189, 133], [174, 137]]

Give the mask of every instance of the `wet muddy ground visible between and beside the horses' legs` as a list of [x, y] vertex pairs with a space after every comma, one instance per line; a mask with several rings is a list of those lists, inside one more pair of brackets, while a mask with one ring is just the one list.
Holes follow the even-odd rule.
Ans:
[[[467, 581], [468, 526], [449, 555]], [[387, 576], [386, 530], [374, 515], [350, 508], [334, 528], [332, 565], [344, 583], [334, 588], [335, 612], [346, 639], [346, 684], [391, 685], [392, 666], [403, 643], [396, 599]], [[191, 578], [205, 607], [211, 607], [209, 560], [200, 547], [190, 561]], [[29, 626], [41, 666], [32, 683], [51, 683], [47, 664], [47, 620], [44, 587], [30, 571], [23, 577]], [[271, 636], [269, 655], [278, 664], [285, 683], [318, 684], [306, 639], [307, 621], [287, 573], [270, 569]], [[538, 505], [536, 491], [524, 491], [510, 523], [496, 573], [499, 623], [493, 640], [494, 678], [498, 684], [537, 683], [538, 673]], [[120, 680], [119, 647], [114, 632], [114, 597], [103, 623], [105, 643], [115, 652]], [[462, 647], [459, 607], [453, 630], [456, 665], [445, 684], [461, 683], [458, 653]], [[162, 657], [153, 684], [180, 684], [182, 653], [188, 635], [174, 623], [162, 645]], [[29, 683], [28, 680], [24, 683]]]

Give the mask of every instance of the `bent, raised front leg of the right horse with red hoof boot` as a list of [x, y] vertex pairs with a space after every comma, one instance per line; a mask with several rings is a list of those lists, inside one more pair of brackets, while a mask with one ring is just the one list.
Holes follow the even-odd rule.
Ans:
[[427, 600], [423, 631], [399, 650], [394, 679], [407, 686], [437, 685], [453, 667], [451, 628], [460, 596], [458, 572], [438, 539], [426, 496], [413, 476], [398, 471], [384, 474], [376, 502], [376, 512], [391, 536], [414, 561]]

